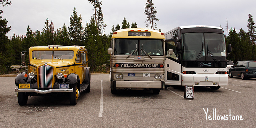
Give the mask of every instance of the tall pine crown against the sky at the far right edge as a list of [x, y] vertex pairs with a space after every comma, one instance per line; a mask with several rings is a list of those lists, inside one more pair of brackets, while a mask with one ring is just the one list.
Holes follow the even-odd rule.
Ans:
[[247, 20], [247, 28], [248, 28], [248, 35], [250, 36], [250, 42], [251, 44], [254, 44], [255, 43], [255, 40], [256, 40], [256, 33], [255, 33], [255, 26], [254, 26], [254, 21], [252, 19], [252, 15], [249, 14], [249, 18]]

